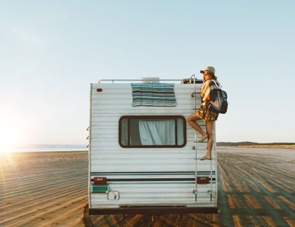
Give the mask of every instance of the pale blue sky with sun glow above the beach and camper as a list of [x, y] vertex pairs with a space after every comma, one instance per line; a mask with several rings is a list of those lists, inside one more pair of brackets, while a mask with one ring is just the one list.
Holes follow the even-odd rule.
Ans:
[[295, 1], [0, 1], [0, 140], [86, 144], [98, 79], [228, 93], [217, 141], [295, 142]]

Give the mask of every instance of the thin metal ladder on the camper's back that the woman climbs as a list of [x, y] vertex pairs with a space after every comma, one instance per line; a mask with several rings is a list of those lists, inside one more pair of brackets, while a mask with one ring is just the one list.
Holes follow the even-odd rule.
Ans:
[[[196, 105], [197, 105], [197, 103], [196, 103], [196, 101], [197, 101], [196, 94], [199, 93], [199, 92], [196, 92], [195, 74], [192, 74], [192, 76], [190, 77], [190, 80], [191, 79], [193, 79], [193, 84], [194, 84], [194, 91], [192, 93], [192, 97], [194, 98], [194, 108], [193, 108], [193, 110], [195, 112], [197, 112], [197, 110], [199, 110], [199, 109], [197, 109], [197, 107], [196, 107]], [[215, 122], [214, 122], [214, 129], [215, 129]], [[215, 141], [215, 134], [214, 134], [214, 141]], [[195, 160], [195, 190], [193, 191], [193, 193], [195, 194], [195, 202], [197, 202], [197, 194], [204, 193], [204, 192], [198, 192], [197, 191], [197, 185], [198, 185], [197, 177], [199, 176], [198, 171], [197, 171], [197, 166], [198, 166], [197, 165], [197, 162], [198, 162], [197, 160], [201, 160], [200, 158], [197, 158], [197, 151], [198, 151], [197, 150], [197, 144], [198, 143], [204, 143], [204, 142], [197, 141], [197, 131], [196, 130], [195, 130], [195, 141], [194, 141], [194, 143], [195, 143], [195, 158], [194, 158], [194, 160]], [[211, 190], [208, 190], [208, 192], [205, 192], [206, 194], [210, 195], [210, 202], [212, 202], [212, 196], [213, 196], [213, 183], [212, 183], [212, 181], [213, 181], [213, 163], [212, 162], [215, 161], [215, 159], [216, 159], [215, 143], [214, 143], [214, 149], [212, 149], [212, 151], [213, 150], [214, 150], [214, 155], [211, 154], [211, 157], [214, 157], [214, 158], [210, 160], [210, 187], [211, 187]], [[204, 162], [206, 162], [206, 161], [204, 160]], [[216, 179], [216, 173], [215, 173], [215, 179]]]

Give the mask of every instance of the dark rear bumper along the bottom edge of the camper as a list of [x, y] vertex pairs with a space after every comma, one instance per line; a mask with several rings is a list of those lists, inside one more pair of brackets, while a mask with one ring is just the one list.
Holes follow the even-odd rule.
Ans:
[[89, 209], [89, 214], [217, 214], [217, 207], [120, 207]]

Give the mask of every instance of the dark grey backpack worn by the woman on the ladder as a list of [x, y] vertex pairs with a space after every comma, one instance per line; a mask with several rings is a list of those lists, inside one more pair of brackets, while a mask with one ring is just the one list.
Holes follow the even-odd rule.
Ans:
[[217, 89], [213, 89], [210, 92], [210, 97], [212, 98], [212, 101], [210, 101], [209, 110], [224, 114], [226, 111], [228, 111], [228, 94], [225, 91], [221, 90], [221, 88], [213, 79], [211, 81], [214, 82]]

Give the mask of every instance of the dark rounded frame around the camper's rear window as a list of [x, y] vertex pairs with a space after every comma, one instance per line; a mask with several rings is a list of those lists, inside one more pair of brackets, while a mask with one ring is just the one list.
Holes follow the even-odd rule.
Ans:
[[[178, 127], [177, 119], [183, 119], [183, 144], [178, 145]], [[128, 143], [129, 145], [122, 144], [122, 120], [128, 119]], [[130, 119], [174, 119], [175, 120], [175, 141], [176, 145], [130, 145]], [[124, 115], [119, 118], [119, 145], [122, 148], [183, 148], [186, 145], [186, 119], [181, 115]]]

